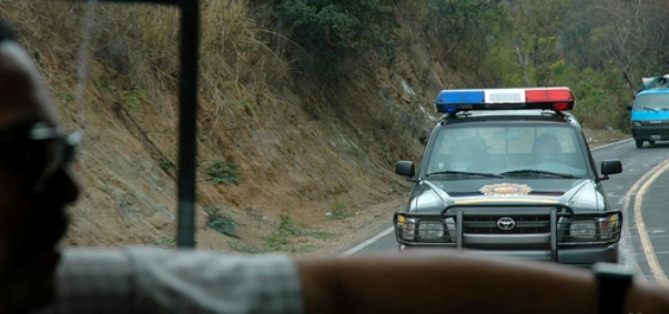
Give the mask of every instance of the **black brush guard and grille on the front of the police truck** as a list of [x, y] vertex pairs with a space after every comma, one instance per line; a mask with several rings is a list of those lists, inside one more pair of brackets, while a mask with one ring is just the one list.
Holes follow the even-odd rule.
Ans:
[[[515, 223], [511, 229], [499, 227], [498, 224], [508, 227], [505, 222], [509, 223], [509, 219]], [[558, 204], [452, 205], [442, 213], [396, 212], [393, 222], [397, 243], [407, 247], [546, 250], [557, 262], [558, 251], [562, 249], [618, 243], [622, 213], [574, 212], [569, 206]], [[571, 225], [586, 222], [594, 226], [571, 229]], [[591, 235], [577, 235], [576, 232]]]

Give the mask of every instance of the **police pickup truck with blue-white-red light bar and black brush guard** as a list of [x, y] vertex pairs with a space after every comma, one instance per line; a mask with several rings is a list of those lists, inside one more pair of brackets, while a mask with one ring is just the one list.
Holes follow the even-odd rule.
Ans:
[[589, 266], [618, 262], [622, 215], [601, 185], [568, 88], [443, 90], [444, 113], [394, 215], [399, 250], [467, 249]]

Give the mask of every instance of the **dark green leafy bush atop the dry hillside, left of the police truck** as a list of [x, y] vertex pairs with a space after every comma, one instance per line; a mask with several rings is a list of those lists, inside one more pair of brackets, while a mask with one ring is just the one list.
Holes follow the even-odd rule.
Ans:
[[393, 51], [393, 6], [397, 0], [273, 1], [262, 18], [297, 44], [301, 64], [335, 79], [346, 57], [369, 50]]

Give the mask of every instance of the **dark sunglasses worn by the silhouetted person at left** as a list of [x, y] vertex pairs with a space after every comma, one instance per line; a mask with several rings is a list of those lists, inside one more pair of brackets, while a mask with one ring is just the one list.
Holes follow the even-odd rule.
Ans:
[[13, 128], [0, 132], [0, 160], [37, 183], [70, 166], [81, 138], [81, 132], [67, 134], [44, 122]]

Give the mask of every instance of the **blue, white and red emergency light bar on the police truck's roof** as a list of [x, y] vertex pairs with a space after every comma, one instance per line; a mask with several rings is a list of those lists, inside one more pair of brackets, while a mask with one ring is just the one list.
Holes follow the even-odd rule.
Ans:
[[443, 90], [437, 95], [437, 112], [469, 110], [546, 109], [572, 110], [574, 93], [569, 88]]

